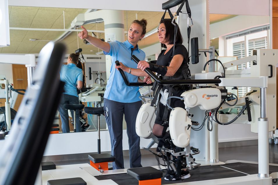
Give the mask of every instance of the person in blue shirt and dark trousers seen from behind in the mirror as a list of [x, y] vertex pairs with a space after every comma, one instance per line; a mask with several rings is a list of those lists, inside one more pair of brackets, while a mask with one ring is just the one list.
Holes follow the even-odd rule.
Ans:
[[[68, 122], [68, 110], [64, 108], [64, 104], [79, 104], [79, 99], [77, 95], [77, 89], [82, 88], [83, 72], [78, 68], [79, 55], [72, 53], [68, 56], [68, 64], [63, 65], [60, 71], [60, 80], [65, 82], [64, 93], [61, 96], [60, 103], [58, 105], [58, 111], [60, 113], [62, 121], [62, 131], [63, 133], [69, 133], [70, 127]], [[70, 110], [73, 116], [73, 110]], [[79, 110], [76, 110], [76, 132], [81, 132], [81, 126], [79, 122]]]

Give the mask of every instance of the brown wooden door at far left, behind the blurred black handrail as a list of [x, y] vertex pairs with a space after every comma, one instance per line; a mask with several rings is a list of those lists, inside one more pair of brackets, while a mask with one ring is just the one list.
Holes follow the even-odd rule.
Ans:
[[[27, 68], [25, 65], [13, 64], [13, 88], [15, 89], [27, 89]], [[23, 95], [18, 95], [15, 102], [15, 109], [18, 110], [22, 101]]]

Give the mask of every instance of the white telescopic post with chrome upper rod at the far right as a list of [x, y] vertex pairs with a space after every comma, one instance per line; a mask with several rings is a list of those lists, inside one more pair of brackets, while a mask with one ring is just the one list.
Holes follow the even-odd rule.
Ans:
[[269, 177], [268, 118], [266, 117], [266, 88], [261, 88], [261, 117], [258, 118], [258, 177]]

